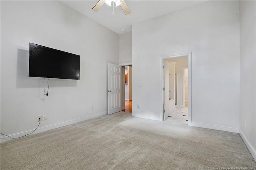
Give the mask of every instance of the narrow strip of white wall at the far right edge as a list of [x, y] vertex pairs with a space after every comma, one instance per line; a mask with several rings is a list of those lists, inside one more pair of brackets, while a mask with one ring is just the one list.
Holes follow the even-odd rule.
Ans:
[[256, 160], [255, 20], [256, 2], [240, 1], [240, 135]]

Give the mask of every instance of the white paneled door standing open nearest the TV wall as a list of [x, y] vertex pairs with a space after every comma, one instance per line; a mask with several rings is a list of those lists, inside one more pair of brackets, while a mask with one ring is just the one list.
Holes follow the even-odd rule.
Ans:
[[121, 66], [108, 63], [108, 115], [121, 111]]

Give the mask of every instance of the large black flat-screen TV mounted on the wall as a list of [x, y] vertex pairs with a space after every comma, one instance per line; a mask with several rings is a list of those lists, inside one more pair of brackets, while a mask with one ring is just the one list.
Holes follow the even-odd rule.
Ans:
[[29, 43], [29, 77], [80, 78], [80, 55]]

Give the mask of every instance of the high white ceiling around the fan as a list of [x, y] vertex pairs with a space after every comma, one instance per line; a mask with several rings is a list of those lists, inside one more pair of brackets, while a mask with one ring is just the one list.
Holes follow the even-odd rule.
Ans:
[[[132, 31], [132, 24], [194, 6], [205, 2], [205, 0], [125, 0], [132, 11], [127, 16], [120, 6], [114, 7], [115, 15], [112, 15], [113, 6], [108, 6], [107, 4], [104, 4], [98, 12], [92, 11], [98, 0], [63, 0], [60, 2], [95, 20], [117, 34], [123, 34]], [[122, 32], [122, 29], [126, 31]]]

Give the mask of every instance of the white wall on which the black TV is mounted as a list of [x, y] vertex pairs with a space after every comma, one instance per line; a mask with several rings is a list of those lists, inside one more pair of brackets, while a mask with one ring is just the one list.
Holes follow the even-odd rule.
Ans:
[[[80, 80], [50, 79], [44, 96], [43, 78], [28, 77], [29, 42], [80, 55]], [[118, 34], [58, 1], [1, 1], [1, 132], [32, 130], [41, 115], [35, 132], [106, 114], [118, 55]]]

